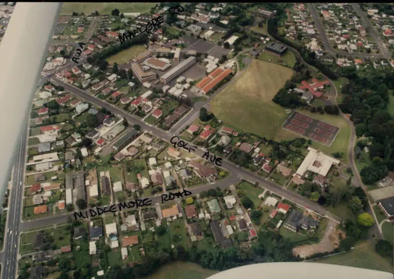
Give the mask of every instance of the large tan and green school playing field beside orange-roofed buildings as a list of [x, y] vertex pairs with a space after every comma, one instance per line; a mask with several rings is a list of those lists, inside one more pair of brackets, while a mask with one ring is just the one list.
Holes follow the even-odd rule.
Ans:
[[274, 138], [288, 115], [272, 98], [293, 73], [287, 67], [253, 60], [241, 77], [214, 98], [212, 111], [238, 129]]

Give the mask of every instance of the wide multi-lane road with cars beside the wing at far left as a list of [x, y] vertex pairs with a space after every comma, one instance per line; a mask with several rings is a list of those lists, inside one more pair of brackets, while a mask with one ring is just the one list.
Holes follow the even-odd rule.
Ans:
[[[26, 144], [27, 144], [27, 131], [23, 131], [23, 136], [20, 141], [20, 148], [16, 155], [16, 161], [14, 165], [14, 173], [12, 177], [12, 188], [9, 197], [9, 213], [7, 216], [7, 227], [12, 230], [12, 234], [7, 234], [4, 241], [4, 248], [1, 254], [1, 260], [3, 262], [2, 278], [9, 279], [16, 276], [17, 271], [17, 251], [18, 251], [18, 240], [21, 209], [23, 205], [23, 185], [20, 182], [24, 181], [25, 174], [25, 161], [26, 161]], [[15, 247], [16, 244], [16, 247]]]

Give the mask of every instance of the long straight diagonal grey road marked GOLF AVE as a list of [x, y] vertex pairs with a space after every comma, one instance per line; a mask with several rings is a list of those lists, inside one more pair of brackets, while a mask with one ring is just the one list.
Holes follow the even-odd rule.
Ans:
[[[122, 117], [124, 117], [129, 123], [138, 124], [138, 125], [141, 126], [141, 128], [143, 130], [149, 131], [152, 134], [155, 134], [156, 136], [164, 139], [167, 142], [169, 142], [171, 137], [173, 136], [173, 134], [171, 134], [169, 132], [166, 132], [166, 131], [163, 131], [163, 130], [160, 130], [158, 128], [152, 127], [152, 126], [146, 124], [145, 122], [141, 121], [140, 119], [137, 119], [133, 115], [131, 115], [131, 114], [129, 114], [129, 113], [127, 113], [127, 112], [125, 112], [125, 111], [123, 111], [123, 110], [121, 110], [121, 109], [119, 109], [119, 108], [117, 108], [117, 107], [115, 107], [115, 106], [113, 106], [113, 105], [111, 105], [109, 103], [106, 103], [106, 102], [104, 102], [104, 101], [102, 101], [102, 100], [100, 100], [98, 98], [95, 98], [92, 95], [86, 93], [85, 91], [80, 90], [77, 87], [74, 87], [74, 86], [72, 86], [72, 85], [70, 85], [70, 84], [68, 84], [66, 82], [63, 82], [62, 80], [56, 79], [56, 78], [54, 78], [54, 80], [55, 80], [56, 83], [58, 83], [61, 86], [63, 86], [64, 89], [72, 92], [76, 96], [78, 96], [78, 97], [80, 97], [82, 99], [85, 99], [86, 101], [88, 101], [88, 102], [90, 102], [92, 104], [95, 104], [97, 106], [104, 107], [105, 109], [107, 109], [109, 111], [112, 111], [114, 114], [122, 115]], [[193, 152], [193, 153], [198, 155], [198, 156], [202, 156], [204, 154], [204, 150], [199, 148], [199, 149], [196, 149], [196, 151]], [[227, 160], [223, 161], [223, 166], [222, 167], [224, 169], [232, 172], [237, 177], [243, 177], [243, 178], [249, 179], [249, 180], [251, 180], [253, 182], [258, 181], [259, 185], [261, 185], [262, 187], [267, 188], [268, 190], [270, 190], [270, 191], [272, 191], [272, 192], [274, 192], [274, 193], [276, 193], [276, 194], [278, 194], [280, 196], [283, 196], [287, 200], [293, 201], [293, 202], [295, 202], [297, 204], [300, 204], [300, 205], [308, 206], [308, 208], [310, 208], [310, 210], [313, 210], [315, 212], [319, 212], [321, 215], [325, 215], [326, 214], [330, 218], [332, 218], [332, 219], [334, 219], [336, 221], [339, 221], [338, 217], [336, 217], [336, 216], [330, 214], [329, 212], [327, 212], [324, 207], [312, 202], [311, 200], [309, 200], [309, 199], [307, 199], [307, 198], [305, 198], [305, 197], [303, 197], [301, 195], [298, 195], [298, 194], [296, 194], [294, 192], [291, 192], [289, 190], [283, 189], [282, 187], [276, 185], [275, 183], [273, 183], [273, 182], [271, 182], [269, 180], [265, 180], [264, 178], [254, 174], [254, 173], [251, 173], [251, 172], [249, 172], [249, 171], [247, 171], [245, 169], [242, 169], [239, 166], [236, 166], [236, 165], [232, 164], [231, 162], [229, 162]]]

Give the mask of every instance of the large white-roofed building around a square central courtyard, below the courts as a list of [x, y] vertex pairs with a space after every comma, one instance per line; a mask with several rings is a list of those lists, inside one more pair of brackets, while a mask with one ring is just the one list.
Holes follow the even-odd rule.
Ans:
[[296, 171], [298, 175], [302, 176], [305, 174], [305, 172], [311, 171], [322, 176], [326, 176], [332, 165], [338, 165], [340, 162], [340, 160], [327, 156], [312, 147], [308, 147], [308, 150], [308, 155], [305, 157]]

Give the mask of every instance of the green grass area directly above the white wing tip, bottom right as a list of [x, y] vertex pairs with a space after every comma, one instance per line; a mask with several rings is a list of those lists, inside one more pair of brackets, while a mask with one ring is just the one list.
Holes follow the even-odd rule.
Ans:
[[356, 245], [356, 248], [343, 254], [314, 261], [323, 264], [345, 265], [392, 272], [391, 264], [367, 242]]

